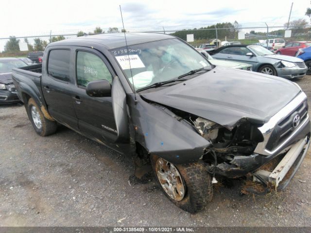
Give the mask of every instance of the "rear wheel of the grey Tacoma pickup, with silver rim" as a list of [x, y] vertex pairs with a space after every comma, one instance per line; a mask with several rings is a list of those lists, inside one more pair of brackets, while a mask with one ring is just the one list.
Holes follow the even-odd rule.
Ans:
[[48, 136], [55, 133], [57, 129], [56, 121], [49, 120], [44, 117], [41, 109], [36, 104], [33, 98], [28, 100], [26, 112], [29, 120], [31, 121], [33, 128], [40, 136]]

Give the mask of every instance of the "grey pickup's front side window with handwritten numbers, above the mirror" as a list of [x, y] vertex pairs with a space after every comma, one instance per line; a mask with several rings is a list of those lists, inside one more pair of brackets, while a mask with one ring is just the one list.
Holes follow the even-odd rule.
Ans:
[[112, 83], [112, 75], [104, 61], [93, 53], [78, 51], [76, 71], [78, 86], [86, 87], [91, 81], [104, 79]]

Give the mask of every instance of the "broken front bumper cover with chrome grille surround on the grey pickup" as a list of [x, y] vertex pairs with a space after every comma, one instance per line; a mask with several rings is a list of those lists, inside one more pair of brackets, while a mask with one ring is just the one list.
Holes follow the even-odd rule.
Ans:
[[[216, 173], [228, 178], [237, 178], [245, 176], [247, 173], [254, 173], [260, 166], [269, 163], [278, 155], [284, 155], [294, 144], [307, 137], [308, 141], [311, 137], [311, 123], [308, 112], [302, 111], [306, 109], [307, 96], [301, 92], [294, 100], [288, 103], [276, 115], [259, 128], [263, 135], [263, 142], [258, 143], [253, 154], [248, 156], [235, 156], [230, 163], [221, 163], [217, 165]], [[276, 141], [276, 145], [269, 148], [268, 142], [270, 138], [274, 138], [274, 132], [278, 131], [280, 122], [286, 120], [285, 123], [292, 122], [293, 116], [301, 115], [301, 122], [296, 128], [290, 131], [281, 141]], [[283, 123], [282, 123], [283, 124]], [[281, 135], [281, 134], [279, 134]], [[268, 150], [269, 149], [269, 150]]]

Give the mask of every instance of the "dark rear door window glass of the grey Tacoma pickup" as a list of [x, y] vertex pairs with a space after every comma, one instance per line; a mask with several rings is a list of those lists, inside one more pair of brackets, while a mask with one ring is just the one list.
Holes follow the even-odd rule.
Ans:
[[69, 82], [70, 50], [51, 50], [48, 60], [48, 74], [55, 79]]

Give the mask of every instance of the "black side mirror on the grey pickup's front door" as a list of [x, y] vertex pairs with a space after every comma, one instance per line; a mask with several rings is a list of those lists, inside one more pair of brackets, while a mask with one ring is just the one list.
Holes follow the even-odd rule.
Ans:
[[111, 85], [107, 80], [89, 82], [86, 86], [86, 94], [91, 97], [109, 97]]

